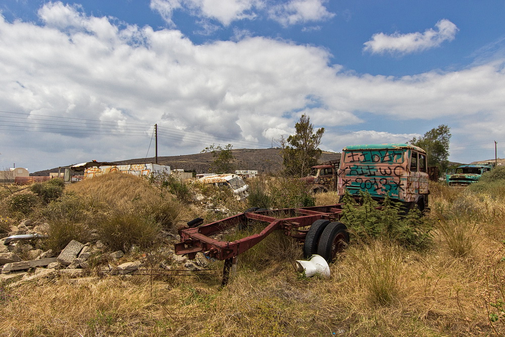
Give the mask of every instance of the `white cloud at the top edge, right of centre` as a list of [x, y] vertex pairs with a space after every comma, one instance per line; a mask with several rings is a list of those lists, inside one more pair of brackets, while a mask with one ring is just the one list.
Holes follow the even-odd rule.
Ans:
[[307, 22], [325, 21], [335, 16], [328, 12], [324, 3], [328, 0], [290, 0], [269, 9], [269, 17], [283, 26]]

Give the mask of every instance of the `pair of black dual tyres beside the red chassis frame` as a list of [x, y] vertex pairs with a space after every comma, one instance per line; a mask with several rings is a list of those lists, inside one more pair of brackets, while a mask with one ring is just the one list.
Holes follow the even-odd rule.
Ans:
[[343, 223], [316, 220], [305, 237], [304, 256], [308, 259], [317, 254], [330, 263], [348, 243], [349, 233]]

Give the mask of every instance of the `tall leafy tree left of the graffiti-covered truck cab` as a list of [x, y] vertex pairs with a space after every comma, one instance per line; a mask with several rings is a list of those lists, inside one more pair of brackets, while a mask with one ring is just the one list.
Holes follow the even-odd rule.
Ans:
[[294, 135], [281, 139], [282, 162], [287, 174], [306, 176], [311, 167], [317, 165], [321, 156], [319, 145], [324, 128], [319, 128], [314, 132], [310, 117], [305, 114], [301, 115], [294, 128], [296, 129]]

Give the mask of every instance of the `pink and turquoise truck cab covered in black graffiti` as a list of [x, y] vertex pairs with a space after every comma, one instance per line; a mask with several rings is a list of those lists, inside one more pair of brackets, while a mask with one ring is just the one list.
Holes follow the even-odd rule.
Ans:
[[426, 152], [414, 145], [372, 144], [348, 146], [342, 150], [337, 173], [338, 195], [349, 191], [359, 196], [368, 191], [381, 200], [386, 195], [406, 208], [423, 211], [428, 206]]

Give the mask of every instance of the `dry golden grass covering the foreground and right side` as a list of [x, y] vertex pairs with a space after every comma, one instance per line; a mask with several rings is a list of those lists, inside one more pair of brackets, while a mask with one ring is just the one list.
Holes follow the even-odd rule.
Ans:
[[[91, 190], [78, 185], [72, 186], [76, 194]], [[438, 187], [430, 196], [430, 217], [443, 216], [447, 230], [469, 226], [452, 235], [471, 243], [466, 254], [455, 254], [451, 236], [438, 227], [430, 249], [354, 242], [330, 266], [330, 278], [305, 278], [293, 267], [300, 247], [279, 232], [240, 256], [237, 274], [224, 288], [219, 275], [57, 277], [0, 288], [0, 331], [14, 336], [505, 335], [503, 200]], [[132, 199], [149, 188], [125, 186], [109, 203], [121, 199], [134, 205], [140, 201]], [[89, 196], [96, 207], [109, 197], [98, 189]], [[333, 204], [334, 197], [317, 195], [317, 204]], [[185, 207], [181, 219], [202, 212]], [[220, 269], [223, 263], [215, 265]]]

